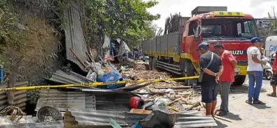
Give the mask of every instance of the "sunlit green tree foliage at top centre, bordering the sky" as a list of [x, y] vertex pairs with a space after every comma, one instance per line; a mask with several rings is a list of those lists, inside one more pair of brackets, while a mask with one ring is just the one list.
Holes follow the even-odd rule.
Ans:
[[150, 22], [160, 15], [151, 15], [146, 9], [157, 5], [157, 1], [86, 0], [84, 5], [90, 12], [86, 22], [91, 33], [102, 30], [111, 37], [122, 38], [131, 47], [155, 35]]

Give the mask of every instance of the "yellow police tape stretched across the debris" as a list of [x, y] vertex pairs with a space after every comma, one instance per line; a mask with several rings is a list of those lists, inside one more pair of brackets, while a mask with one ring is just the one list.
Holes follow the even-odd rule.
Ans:
[[185, 79], [198, 79], [198, 77], [199, 76], [169, 78], [169, 79], [139, 79], [139, 80], [136, 80], [136, 81], [132, 80], [132, 81], [76, 83], [76, 84], [66, 84], [66, 85], [58, 85], [58, 86], [27, 86], [27, 87], [16, 87], [16, 88], [0, 88], [0, 91], [35, 90], [35, 89], [42, 89], [42, 88], [66, 88], [66, 87], [81, 87], [81, 86], [106, 86], [106, 85], [110, 85], [110, 84], [122, 84], [122, 83], [178, 81], [178, 80], [185, 80]]

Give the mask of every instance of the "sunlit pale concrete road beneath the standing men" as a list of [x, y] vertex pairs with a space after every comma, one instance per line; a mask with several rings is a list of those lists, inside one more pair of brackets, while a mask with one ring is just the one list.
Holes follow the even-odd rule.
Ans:
[[[277, 127], [277, 97], [268, 97], [267, 93], [271, 93], [270, 82], [264, 80], [260, 99], [266, 102], [267, 105], [250, 105], [246, 104], [248, 80], [244, 86], [231, 87], [230, 94], [230, 114], [224, 118], [232, 120], [227, 122], [216, 119], [219, 128], [234, 127], [234, 128], [276, 128]], [[221, 104], [220, 95], [218, 96], [218, 105]]]

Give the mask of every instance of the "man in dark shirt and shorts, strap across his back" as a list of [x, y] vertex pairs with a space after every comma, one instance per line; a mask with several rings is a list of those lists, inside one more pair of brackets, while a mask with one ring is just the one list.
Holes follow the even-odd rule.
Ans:
[[214, 117], [216, 108], [216, 95], [218, 91], [218, 80], [223, 72], [221, 58], [209, 51], [209, 44], [202, 42], [198, 45], [200, 53], [200, 86], [202, 102], [206, 105], [206, 115]]

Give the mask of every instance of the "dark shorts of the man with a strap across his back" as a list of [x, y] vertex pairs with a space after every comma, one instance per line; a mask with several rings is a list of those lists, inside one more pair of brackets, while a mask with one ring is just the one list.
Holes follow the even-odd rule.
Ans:
[[219, 91], [219, 85], [215, 81], [203, 81], [201, 84], [202, 102], [212, 103], [216, 100], [217, 93]]

